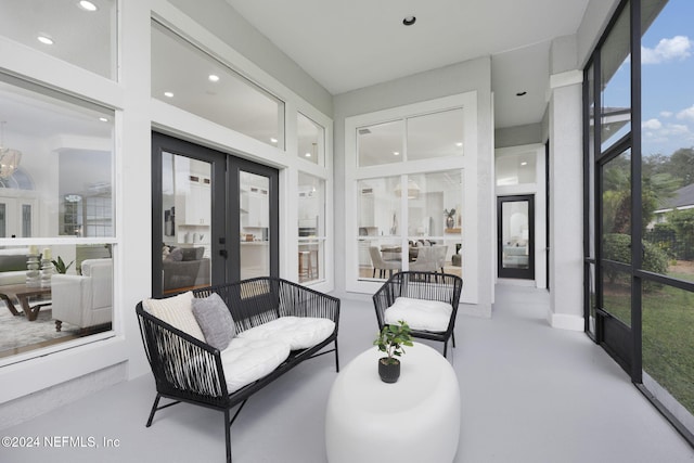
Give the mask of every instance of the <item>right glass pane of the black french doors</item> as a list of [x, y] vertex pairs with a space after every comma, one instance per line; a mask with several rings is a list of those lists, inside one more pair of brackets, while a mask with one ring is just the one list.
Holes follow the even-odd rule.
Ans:
[[241, 171], [241, 279], [270, 275], [270, 179]]

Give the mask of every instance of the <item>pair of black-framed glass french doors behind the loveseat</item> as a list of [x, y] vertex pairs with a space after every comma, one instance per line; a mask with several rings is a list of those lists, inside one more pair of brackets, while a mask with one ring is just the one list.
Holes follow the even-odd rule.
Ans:
[[153, 132], [152, 294], [279, 275], [279, 172]]

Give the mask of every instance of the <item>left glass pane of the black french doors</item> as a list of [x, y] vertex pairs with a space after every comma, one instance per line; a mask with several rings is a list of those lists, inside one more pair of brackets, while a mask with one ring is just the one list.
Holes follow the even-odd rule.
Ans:
[[210, 283], [211, 167], [162, 153], [164, 216], [163, 291], [177, 293]]

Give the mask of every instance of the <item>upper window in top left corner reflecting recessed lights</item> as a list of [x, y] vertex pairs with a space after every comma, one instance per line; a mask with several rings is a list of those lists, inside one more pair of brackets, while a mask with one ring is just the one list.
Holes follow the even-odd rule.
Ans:
[[1, 0], [0, 35], [117, 78], [116, 0]]

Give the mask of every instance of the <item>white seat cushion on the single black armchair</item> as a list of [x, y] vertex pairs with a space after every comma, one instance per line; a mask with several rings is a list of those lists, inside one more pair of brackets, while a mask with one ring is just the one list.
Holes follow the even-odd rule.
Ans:
[[387, 324], [398, 324], [403, 320], [412, 330], [446, 331], [453, 308], [439, 300], [413, 299], [398, 297], [385, 311]]

